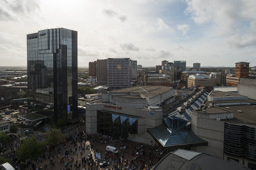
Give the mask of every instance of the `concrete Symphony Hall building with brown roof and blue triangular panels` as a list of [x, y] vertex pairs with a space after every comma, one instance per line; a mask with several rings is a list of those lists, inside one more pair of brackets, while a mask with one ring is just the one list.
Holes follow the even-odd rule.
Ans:
[[129, 87], [102, 93], [102, 101], [86, 104], [86, 132], [127, 138], [154, 145], [147, 129], [163, 124], [164, 104], [173, 100], [171, 87]]

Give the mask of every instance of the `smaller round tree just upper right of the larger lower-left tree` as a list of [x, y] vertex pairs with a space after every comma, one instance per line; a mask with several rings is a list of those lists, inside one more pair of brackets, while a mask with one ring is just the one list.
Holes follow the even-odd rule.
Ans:
[[55, 146], [58, 143], [61, 143], [64, 141], [64, 136], [61, 133], [60, 129], [51, 129], [51, 131], [48, 131], [46, 133], [46, 143], [49, 146]]

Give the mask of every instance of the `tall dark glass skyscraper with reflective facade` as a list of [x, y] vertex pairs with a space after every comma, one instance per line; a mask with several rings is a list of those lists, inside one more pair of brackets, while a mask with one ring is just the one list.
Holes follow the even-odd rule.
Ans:
[[77, 114], [77, 31], [45, 29], [27, 35], [29, 109], [54, 115]]

